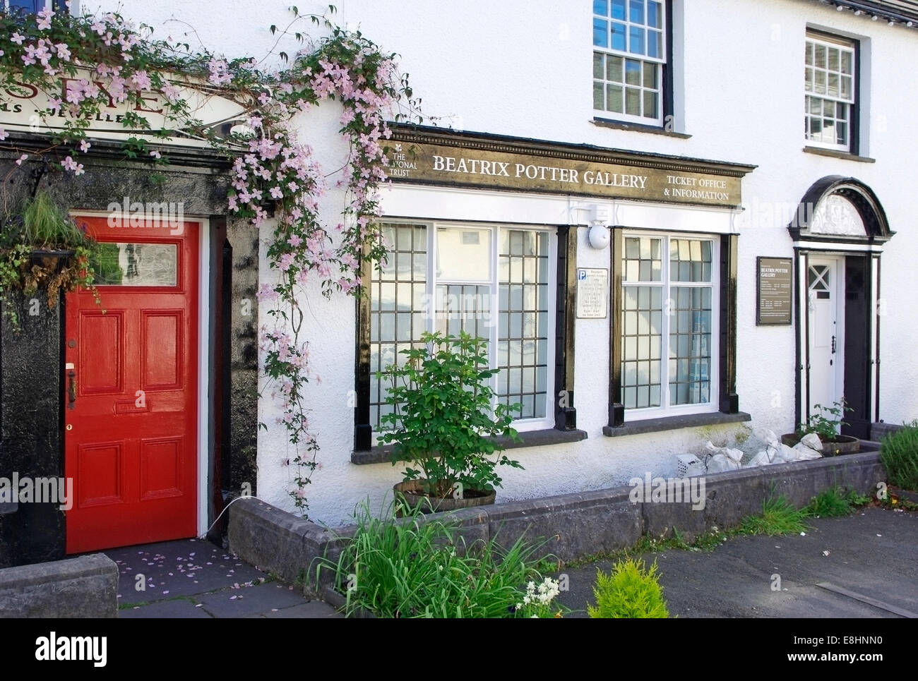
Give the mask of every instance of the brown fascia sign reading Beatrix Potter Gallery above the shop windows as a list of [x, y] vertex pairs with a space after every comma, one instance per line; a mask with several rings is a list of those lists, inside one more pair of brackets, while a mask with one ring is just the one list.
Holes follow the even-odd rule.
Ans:
[[661, 203], [737, 207], [741, 175], [700, 173], [624, 162], [492, 151], [414, 140], [393, 142], [394, 182], [452, 184]]

